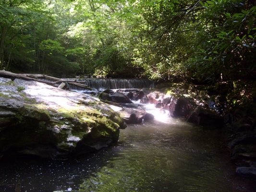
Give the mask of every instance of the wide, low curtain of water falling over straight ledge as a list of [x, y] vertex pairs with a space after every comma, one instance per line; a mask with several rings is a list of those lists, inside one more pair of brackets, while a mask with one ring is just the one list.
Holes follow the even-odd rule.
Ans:
[[77, 83], [85, 84], [97, 90], [103, 89], [134, 89], [153, 88], [154, 81], [146, 79], [68, 79], [76, 80]]

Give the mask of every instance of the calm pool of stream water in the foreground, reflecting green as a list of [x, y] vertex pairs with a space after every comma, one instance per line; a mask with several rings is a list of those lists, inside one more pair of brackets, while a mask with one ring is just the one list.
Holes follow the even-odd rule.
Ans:
[[[0, 165], [0, 192], [254, 192], [233, 173], [218, 130], [179, 120], [129, 126], [117, 144], [76, 160]], [[14, 185], [13, 185], [14, 184]]]

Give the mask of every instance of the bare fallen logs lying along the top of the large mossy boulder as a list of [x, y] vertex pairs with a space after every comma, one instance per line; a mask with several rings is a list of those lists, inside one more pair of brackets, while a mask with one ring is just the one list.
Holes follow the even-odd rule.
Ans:
[[[52, 77], [52, 76], [44, 75], [44, 74], [13, 73], [13, 72], [7, 72], [5, 70], [0, 70], [0, 77], [11, 78], [12, 81], [16, 78], [23, 79], [26, 81], [37, 81], [37, 82], [49, 84], [49, 85], [52, 85], [55, 87], [58, 87], [61, 83], [69, 83], [69, 84], [72, 84], [72, 85], [75, 85], [78, 87], [92, 90], [92, 88], [88, 87], [85, 84], [76, 83], [75, 80], [60, 79], [57, 77]], [[46, 79], [46, 80], [44, 80], [44, 79]], [[49, 81], [47, 81], [47, 80], [49, 80]]]

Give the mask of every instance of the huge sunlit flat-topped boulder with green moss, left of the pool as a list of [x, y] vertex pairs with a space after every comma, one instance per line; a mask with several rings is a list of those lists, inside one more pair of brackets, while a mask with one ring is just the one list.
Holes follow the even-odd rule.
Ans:
[[0, 78], [0, 157], [67, 158], [116, 142], [122, 118], [91, 96]]

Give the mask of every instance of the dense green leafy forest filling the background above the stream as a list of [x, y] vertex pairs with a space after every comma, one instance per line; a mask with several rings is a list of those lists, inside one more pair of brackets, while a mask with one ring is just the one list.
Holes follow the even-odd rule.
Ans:
[[0, 69], [58, 77], [256, 77], [254, 0], [1, 0]]

